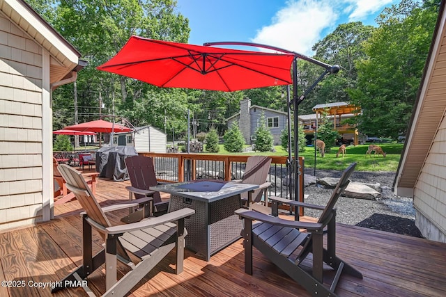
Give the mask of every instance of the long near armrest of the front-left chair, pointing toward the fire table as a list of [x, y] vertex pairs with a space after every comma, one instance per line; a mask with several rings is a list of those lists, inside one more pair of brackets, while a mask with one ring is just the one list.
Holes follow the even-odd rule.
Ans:
[[113, 227], [106, 227], [105, 230], [109, 234], [121, 234], [124, 232], [130, 232], [135, 230], [141, 230], [149, 227], [155, 227], [157, 225], [162, 225], [164, 223], [174, 222], [176, 220], [180, 220], [182, 218], [187, 218], [188, 216], [192, 216], [195, 214], [194, 209], [183, 208], [178, 209], [176, 211], [169, 212], [167, 214], [163, 214], [162, 216], [151, 217], [147, 220], [141, 220], [136, 223], [131, 223], [127, 225], [118, 225]]

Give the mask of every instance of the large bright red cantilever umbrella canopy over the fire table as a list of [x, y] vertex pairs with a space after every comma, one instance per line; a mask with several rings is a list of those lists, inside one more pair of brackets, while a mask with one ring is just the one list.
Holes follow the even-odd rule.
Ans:
[[163, 88], [234, 91], [291, 84], [294, 57], [132, 36], [97, 69]]

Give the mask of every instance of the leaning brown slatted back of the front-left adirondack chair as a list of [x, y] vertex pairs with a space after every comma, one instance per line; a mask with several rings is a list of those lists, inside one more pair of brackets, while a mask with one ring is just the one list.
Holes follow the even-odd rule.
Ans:
[[75, 194], [87, 216], [104, 227], [112, 226], [93, 193], [91, 193], [90, 187], [86, 184], [81, 172], [66, 164], [59, 165], [58, 169], [63, 179], [66, 180], [68, 190]]

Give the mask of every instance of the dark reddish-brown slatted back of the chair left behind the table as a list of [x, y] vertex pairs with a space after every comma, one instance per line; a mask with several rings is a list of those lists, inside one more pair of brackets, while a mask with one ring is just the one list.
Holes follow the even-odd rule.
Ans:
[[[128, 156], [125, 158], [130, 184], [134, 188], [149, 190], [149, 187], [156, 186], [155, 166], [151, 156]], [[134, 194], [135, 198], [144, 198], [144, 195]], [[160, 192], [153, 194], [153, 202], [161, 202]]]

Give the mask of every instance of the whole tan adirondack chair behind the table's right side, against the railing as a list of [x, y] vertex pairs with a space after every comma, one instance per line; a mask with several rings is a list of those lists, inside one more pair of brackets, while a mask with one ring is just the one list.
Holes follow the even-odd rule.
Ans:
[[271, 158], [269, 156], [249, 156], [246, 161], [245, 174], [243, 179], [233, 180], [243, 184], [258, 184], [259, 188], [252, 193], [252, 201], [248, 201], [248, 194], [242, 194], [242, 202], [246, 207], [251, 207], [252, 203], [261, 202], [262, 197], [265, 197], [263, 203], [267, 202], [268, 187], [270, 182], [266, 182], [268, 173], [270, 172]]

